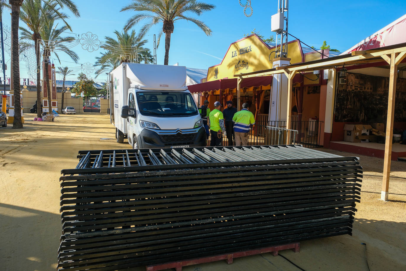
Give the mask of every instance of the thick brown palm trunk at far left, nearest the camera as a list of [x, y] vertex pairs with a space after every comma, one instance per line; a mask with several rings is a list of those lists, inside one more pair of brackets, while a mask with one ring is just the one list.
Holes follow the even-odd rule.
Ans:
[[13, 128], [23, 128], [21, 119], [21, 99], [20, 99], [20, 63], [18, 45], [18, 20], [20, 7], [24, 0], [9, 0], [11, 5], [11, 58], [13, 59], [13, 86], [14, 86], [14, 120]]

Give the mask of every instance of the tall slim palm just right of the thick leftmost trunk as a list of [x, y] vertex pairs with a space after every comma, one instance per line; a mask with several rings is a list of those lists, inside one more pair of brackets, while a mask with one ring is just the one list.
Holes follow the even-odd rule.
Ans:
[[[42, 5], [41, 5], [42, 3]], [[45, 26], [45, 20], [63, 20], [65, 25], [70, 29], [69, 24], [65, 21], [68, 16], [60, 13], [60, 9], [67, 6], [74, 15], [79, 17], [78, 8], [71, 0], [26, 0], [22, 5], [20, 19], [26, 23], [26, 28], [20, 30], [25, 32], [24, 37], [34, 40], [35, 56], [37, 58], [37, 117], [41, 117], [41, 54], [39, 44], [41, 35], [39, 31]], [[30, 37], [29, 37], [30, 36]]]

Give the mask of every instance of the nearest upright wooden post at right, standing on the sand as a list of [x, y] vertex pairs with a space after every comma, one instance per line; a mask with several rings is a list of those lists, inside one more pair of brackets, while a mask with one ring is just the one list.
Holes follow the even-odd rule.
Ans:
[[389, 192], [389, 176], [391, 173], [391, 156], [392, 156], [392, 137], [393, 137], [393, 119], [395, 113], [395, 97], [396, 97], [396, 78], [397, 65], [396, 54], [391, 54], [391, 69], [389, 77], [389, 95], [388, 95], [388, 116], [386, 120], [386, 140], [385, 140], [385, 156], [383, 163], [383, 178], [381, 199], [388, 200]]

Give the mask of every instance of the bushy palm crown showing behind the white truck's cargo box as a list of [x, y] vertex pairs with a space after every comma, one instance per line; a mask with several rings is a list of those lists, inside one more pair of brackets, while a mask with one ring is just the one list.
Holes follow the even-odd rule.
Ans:
[[137, 62], [138, 51], [143, 50], [143, 46], [147, 43], [147, 40], [140, 40], [136, 37], [134, 30], [132, 30], [131, 33], [114, 30], [114, 34], [116, 34], [117, 39], [105, 37], [106, 42], [100, 46], [107, 50], [100, 58], [100, 63], [106, 63], [108, 59], [119, 59], [120, 63]]

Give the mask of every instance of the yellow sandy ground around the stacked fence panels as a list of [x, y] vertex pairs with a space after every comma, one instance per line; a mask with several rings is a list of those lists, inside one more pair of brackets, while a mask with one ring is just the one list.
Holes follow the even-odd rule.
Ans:
[[[79, 150], [130, 148], [114, 139], [109, 115], [61, 115], [0, 128], [0, 270], [55, 270], [61, 223], [61, 169], [74, 168]], [[342, 156], [353, 154], [319, 149]], [[361, 203], [353, 235], [302, 242], [281, 254], [309, 270], [406, 270], [406, 162], [392, 161], [389, 202], [382, 202], [383, 160], [361, 156]], [[366, 243], [361, 245], [361, 243]], [[366, 249], [366, 251], [365, 251]], [[132, 270], [145, 270], [136, 268]], [[184, 267], [184, 271], [299, 270], [280, 256], [261, 254]]]

